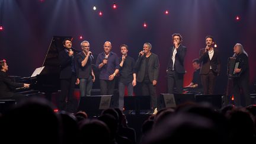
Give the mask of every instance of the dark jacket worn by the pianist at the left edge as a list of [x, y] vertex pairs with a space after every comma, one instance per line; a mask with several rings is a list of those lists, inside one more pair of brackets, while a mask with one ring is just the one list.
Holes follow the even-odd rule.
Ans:
[[6, 72], [0, 71], [0, 98], [11, 98], [14, 89], [20, 87], [24, 87], [24, 84], [13, 82]]

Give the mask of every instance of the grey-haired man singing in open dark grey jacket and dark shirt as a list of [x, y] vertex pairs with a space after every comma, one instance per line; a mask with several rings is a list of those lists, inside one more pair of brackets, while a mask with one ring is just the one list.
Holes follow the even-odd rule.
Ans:
[[135, 68], [137, 69], [137, 82], [142, 84], [142, 95], [151, 95], [153, 109], [157, 107], [156, 84], [159, 75], [158, 56], [151, 52], [151, 43], [145, 43], [143, 51], [139, 53]]

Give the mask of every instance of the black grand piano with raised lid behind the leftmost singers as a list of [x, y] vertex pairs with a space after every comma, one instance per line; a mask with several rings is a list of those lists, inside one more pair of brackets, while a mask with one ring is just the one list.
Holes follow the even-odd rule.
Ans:
[[[12, 76], [14, 81], [29, 83], [29, 89], [17, 89], [17, 93], [24, 95], [44, 95], [47, 100], [52, 100], [52, 94], [59, 91], [60, 89], [60, 64], [59, 64], [59, 52], [64, 49], [62, 41], [66, 38], [72, 39], [69, 36], [53, 36], [50, 42], [50, 46], [47, 50], [46, 56], [44, 58], [43, 65], [39, 68], [43, 68], [43, 70], [34, 76], [29, 78], [21, 78], [20, 76]], [[78, 52], [78, 51], [77, 51]], [[97, 56], [96, 56], [97, 57]], [[95, 63], [96, 59], [94, 58], [92, 63]], [[92, 64], [92, 69], [94, 70], [94, 74], [96, 76], [97, 81], [94, 82], [92, 95], [100, 95], [100, 84], [98, 81], [99, 70], [97, 66]], [[79, 88], [76, 85], [76, 88]]]

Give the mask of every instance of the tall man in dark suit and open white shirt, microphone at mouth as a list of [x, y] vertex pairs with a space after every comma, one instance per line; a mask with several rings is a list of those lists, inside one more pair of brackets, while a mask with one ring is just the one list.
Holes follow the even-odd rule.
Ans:
[[[170, 48], [169, 62], [167, 65], [167, 87], [169, 94], [183, 93], [183, 76], [185, 74], [184, 58], [187, 53], [187, 47], [181, 44], [180, 34], [172, 34], [173, 47]], [[177, 92], [174, 92], [176, 85]]]

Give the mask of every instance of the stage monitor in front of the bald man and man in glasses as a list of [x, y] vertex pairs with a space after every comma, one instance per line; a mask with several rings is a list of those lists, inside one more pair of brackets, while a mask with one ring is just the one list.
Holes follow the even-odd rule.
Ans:
[[85, 111], [89, 117], [99, 116], [101, 111], [110, 108], [112, 103], [112, 95], [91, 95], [81, 97], [78, 110]]

